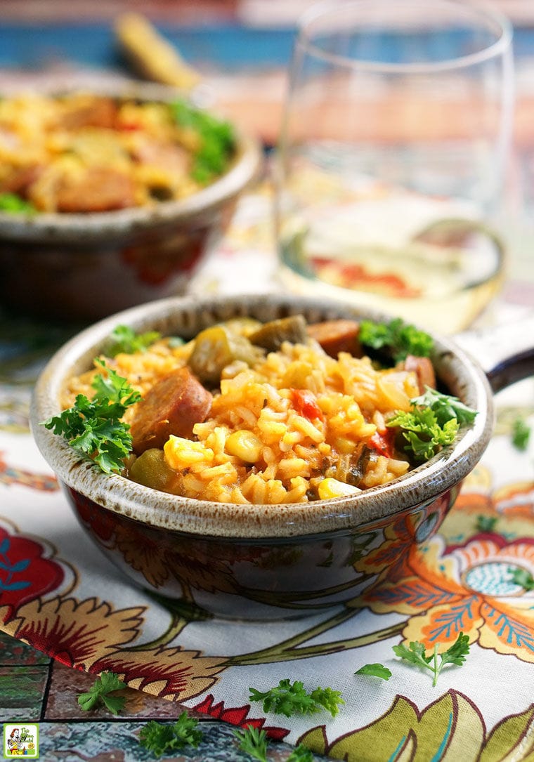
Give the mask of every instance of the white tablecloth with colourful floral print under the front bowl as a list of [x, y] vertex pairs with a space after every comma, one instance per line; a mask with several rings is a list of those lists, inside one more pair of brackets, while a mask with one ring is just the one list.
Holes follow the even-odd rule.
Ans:
[[[266, 203], [262, 193], [243, 200], [193, 290], [275, 287]], [[497, 306], [497, 319], [501, 309], [513, 306]], [[2, 329], [4, 632], [69, 667], [114, 671], [137, 690], [336, 759], [534, 760], [534, 441], [517, 450], [511, 436], [516, 418], [534, 425], [532, 379], [499, 395], [490, 447], [439, 533], [420, 538], [404, 558], [410, 527], [389, 531], [361, 597], [268, 626], [191, 620], [179, 604], [119, 576], [79, 527], [37, 452], [27, 424], [31, 385], [61, 331], [18, 323], [14, 335], [6, 321]], [[410, 641], [447, 648], [459, 632], [469, 637], [467, 660], [445, 668], [435, 687], [429, 673], [392, 649]], [[355, 674], [375, 662], [391, 670], [390, 680]], [[335, 718], [286, 718], [250, 703], [250, 686], [267, 690], [285, 677], [307, 690], [339, 690], [345, 704]]]

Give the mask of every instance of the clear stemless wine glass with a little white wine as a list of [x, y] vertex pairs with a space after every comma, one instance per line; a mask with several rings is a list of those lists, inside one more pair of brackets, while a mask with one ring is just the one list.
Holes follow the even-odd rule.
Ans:
[[275, 153], [279, 276], [442, 333], [500, 290], [512, 28], [460, 0], [304, 14]]

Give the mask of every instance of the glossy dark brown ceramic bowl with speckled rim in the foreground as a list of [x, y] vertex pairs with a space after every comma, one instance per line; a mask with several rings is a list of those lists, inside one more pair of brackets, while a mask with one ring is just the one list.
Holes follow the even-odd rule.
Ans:
[[[365, 558], [381, 545], [386, 531], [394, 527], [408, 538], [407, 552], [410, 543], [439, 527], [490, 440], [491, 383], [495, 390], [534, 370], [532, 350], [514, 350], [508, 343], [507, 360], [491, 357], [490, 383], [470, 354], [434, 336], [439, 379], [478, 410], [473, 426], [462, 427], [455, 443], [394, 482], [311, 503], [228, 505], [169, 495], [104, 475], [40, 425], [60, 412], [63, 383], [92, 367], [117, 324], [188, 338], [236, 315], [265, 322], [291, 313], [302, 313], [309, 322], [388, 320], [368, 310], [293, 296], [163, 299], [86, 329], [56, 353], [37, 382], [31, 424], [41, 453], [84, 530], [131, 580], [153, 593], [243, 619], [302, 616], [352, 600], [375, 578]], [[531, 338], [532, 330], [526, 335]], [[521, 333], [515, 338], [520, 340]], [[481, 347], [481, 337], [474, 337], [474, 346]]]

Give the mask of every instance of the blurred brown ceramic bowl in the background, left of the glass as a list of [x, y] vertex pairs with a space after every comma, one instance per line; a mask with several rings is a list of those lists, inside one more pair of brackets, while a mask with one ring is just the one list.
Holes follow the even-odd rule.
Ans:
[[[138, 101], [177, 97], [170, 88], [138, 83], [94, 91]], [[98, 213], [0, 212], [0, 306], [18, 315], [93, 322], [184, 293], [259, 173], [258, 142], [239, 132], [236, 138], [227, 172], [183, 200]]]

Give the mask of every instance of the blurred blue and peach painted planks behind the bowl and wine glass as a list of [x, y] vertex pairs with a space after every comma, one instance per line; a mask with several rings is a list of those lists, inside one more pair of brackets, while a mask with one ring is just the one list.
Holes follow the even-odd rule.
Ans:
[[[394, 0], [391, 0], [394, 2]], [[275, 145], [295, 24], [310, 0], [0, 0], [2, 88], [89, 75], [137, 76], [117, 37], [134, 11], [200, 77], [198, 98]], [[514, 300], [534, 281], [534, 3], [495, 0], [513, 22], [516, 107], [503, 198]]]

